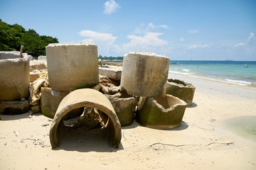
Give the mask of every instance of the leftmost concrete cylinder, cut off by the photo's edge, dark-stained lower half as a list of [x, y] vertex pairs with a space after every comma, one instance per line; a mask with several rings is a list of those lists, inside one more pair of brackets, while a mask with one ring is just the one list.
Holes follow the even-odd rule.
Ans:
[[18, 53], [0, 52], [1, 101], [14, 101], [29, 96], [29, 59], [25, 54], [19, 58]]

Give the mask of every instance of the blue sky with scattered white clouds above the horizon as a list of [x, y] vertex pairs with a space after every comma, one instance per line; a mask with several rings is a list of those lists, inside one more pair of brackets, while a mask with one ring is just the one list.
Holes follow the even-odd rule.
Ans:
[[93, 41], [102, 56], [256, 60], [254, 0], [0, 0], [0, 18], [59, 42]]

